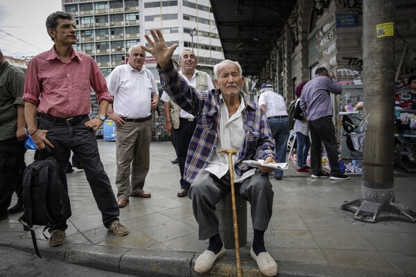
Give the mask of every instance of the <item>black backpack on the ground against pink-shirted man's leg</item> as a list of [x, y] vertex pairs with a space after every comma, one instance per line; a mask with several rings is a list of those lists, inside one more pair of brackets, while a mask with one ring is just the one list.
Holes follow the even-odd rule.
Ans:
[[[24, 231], [31, 231], [33, 247], [37, 256], [42, 258], [37, 248], [33, 225], [45, 226], [44, 231], [58, 220], [67, 220], [71, 216], [71, 204], [67, 190], [59, 175], [59, 164], [54, 157], [34, 161], [24, 170], [23, 177], [24, 215], [19, 222]], [[44, 234], [44, 237], [46, 235]]]

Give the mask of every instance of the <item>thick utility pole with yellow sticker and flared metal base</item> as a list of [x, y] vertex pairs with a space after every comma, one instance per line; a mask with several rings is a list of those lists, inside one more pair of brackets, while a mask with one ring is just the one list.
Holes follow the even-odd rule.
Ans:
[[395, 0], [363, 1], [363, 184], [361, 199], [341, 206], [363, 222], [416, 222], [416, 213], [395, 201], [395, 10]]

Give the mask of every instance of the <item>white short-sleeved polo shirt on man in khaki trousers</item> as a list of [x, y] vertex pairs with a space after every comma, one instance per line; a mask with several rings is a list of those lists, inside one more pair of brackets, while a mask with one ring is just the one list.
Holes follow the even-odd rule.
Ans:
[[114, 97], [114, 113], [125, 118], [146, 118], [151, 115], [152, 96], [159, 95], [155, 77], [142, 67], [137, 71], [130, 64], [116, 66], [106, 78], [108, 91]]

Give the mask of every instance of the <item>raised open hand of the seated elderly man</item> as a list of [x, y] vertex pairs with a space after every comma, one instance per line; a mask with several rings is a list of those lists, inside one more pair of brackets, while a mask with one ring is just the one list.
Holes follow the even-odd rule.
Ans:
[[141, 46], [141, 48], [152, 54], [159, 66], [164, 69], [172, 63], [172, 55], [177, 48], [177, 44], [173, 44], [171, 47], [168, 47], [164, 41], [162, 31], [159, 29], [151, 29], [150, 35], [152, 35], [153, 40], [150, 39], [148, 35], [144, 35], [144, 37], [150, 44], [151, 48], [146, 46]]

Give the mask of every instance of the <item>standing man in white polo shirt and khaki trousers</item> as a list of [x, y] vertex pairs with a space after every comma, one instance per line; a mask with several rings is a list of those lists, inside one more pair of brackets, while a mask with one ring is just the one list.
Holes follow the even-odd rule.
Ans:
[[143, 188], [150, 166], [151, 110], [159, 101], [155, 77], [144, 66], [146, 52], [139, 45], [131, 46], [128, 57], [128, 64], [117, 66], [107, 77], [108, 90], [114, 97], [107, 115], [116, 124], [120, 208], [127, 205], [130, 196], [151, 197]]

